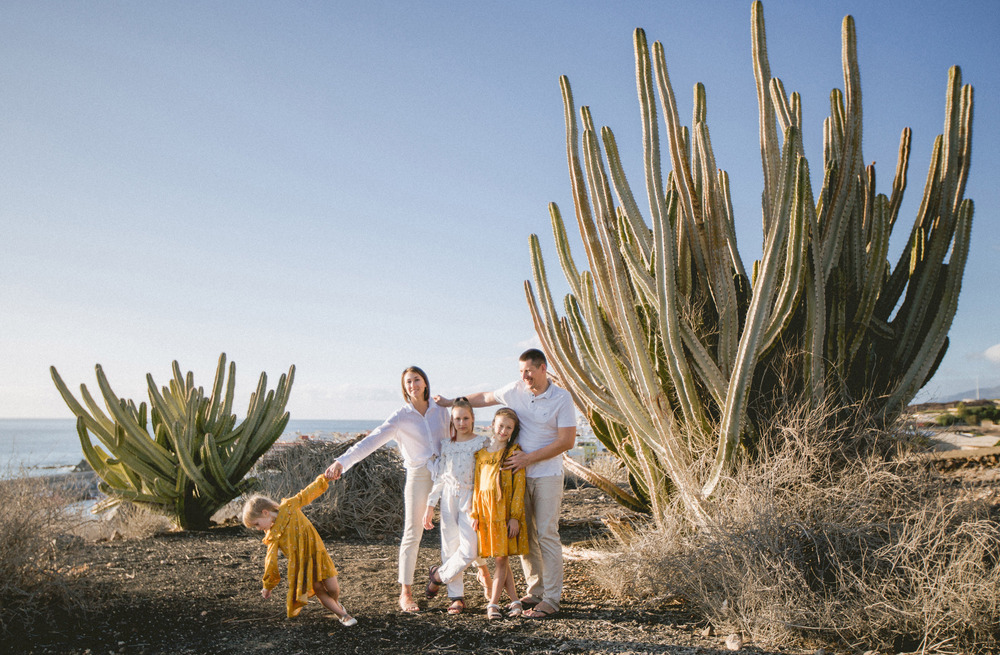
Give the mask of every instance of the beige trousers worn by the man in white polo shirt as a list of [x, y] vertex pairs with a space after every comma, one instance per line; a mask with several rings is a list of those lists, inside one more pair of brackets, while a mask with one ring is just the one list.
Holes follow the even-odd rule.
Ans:
[[521, 568], [528, 595], [559, 609], [562, 599], [562, 542], [559, 541], [559, 512], [562, 509], [563, 476], [528, 478], [524, 495], [528, 523], [528, 554]]

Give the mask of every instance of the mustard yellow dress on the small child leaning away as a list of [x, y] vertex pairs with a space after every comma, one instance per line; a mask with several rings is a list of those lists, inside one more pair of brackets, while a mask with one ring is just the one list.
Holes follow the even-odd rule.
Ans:
[[313, 585], [337, 575], [330, 554], [316, 528], [302, 513], [302, 508], [321, 496], [329, 486], [322, 475], [292, 498], [278, 506], [274, 525], [264, 533], [267, 556], [264, 558], [264, 588], [274, 589], [281, 580], [278, 551], [288, 559], [288, 618], [298, 616], [313, 596]]

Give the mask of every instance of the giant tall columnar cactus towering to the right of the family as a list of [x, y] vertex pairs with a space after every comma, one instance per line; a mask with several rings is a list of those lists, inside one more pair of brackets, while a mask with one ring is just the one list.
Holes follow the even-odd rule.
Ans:
[[[876, 194], [874, 166], [866, 167], [861, 154], [854, 20], [843, 22], [845, 91], [830, 95], [815, 197], [800, 99], [771, 77], [759, 2], [752, 33], [762, 259], [747, 271], [737, 250], [729, 179], [716, 167], [704, 88], [695, 87], [689, 130], [678, 117], [663, 46], [654, 43], [651, 58], [645, 33], [636, 30], [649, 222], [611, 130], [599, 137], [583, 107], [581, 138], [562, 78], [570, 180], [589, 270], [577, 268], [552, 204], [571, 291], [565, 316], [552, 301], [535, 235], [537, 297], [525, 282], [539, 338], [596, 435], [627, 466], [633, 501], [659, 516], [676, 491], [695, 522], [741, 444], [752, 448], [758, 428], [788, 399], [814, 407], [860, 402], [859, 415], [898, 415], [947, 348], [972, 224], [972, 201], [962, 198], [972, 89], [962, 87], [957, 67], [923, 202], [893, 266], [889, 235], [906, 186], [910, 131], [903, 130], [891, 195]], [[672, 168], [666, 180], [654, 83]]]

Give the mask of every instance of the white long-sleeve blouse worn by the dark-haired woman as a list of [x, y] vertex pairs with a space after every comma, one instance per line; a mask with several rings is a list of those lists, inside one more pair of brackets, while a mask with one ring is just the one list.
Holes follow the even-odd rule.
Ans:
[[448, 438], [451, 413], [435, 403], [433, 398], [428, 402], [430, 404], [423, 416], [413, 405], [406, 403], [367, 437], [338, 457], [337, 461], [344, 467], [344, 472], [393, 440], [399, 446], [403, 465], [409, 469], [425, 466], [432, 457], [439, 455], [442, 439]]

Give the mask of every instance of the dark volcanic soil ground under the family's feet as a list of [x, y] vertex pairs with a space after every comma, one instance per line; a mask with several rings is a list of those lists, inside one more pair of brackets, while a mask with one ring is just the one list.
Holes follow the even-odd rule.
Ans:
[[[596, 489], [568, 490], [563, 543], [600, 536], [598, 517], [614, 508]], [[421, 598], [425, 611], [405, 615], [396, 605], [394, 539], [327, 539], [326, 545], [340, 570], [342, 600], [358, 619], [353, 628], [330, 618], [315, 600], [297, 618], [285, 618], [284, 580], [271, 600], [263, 600], [260, 533], [231, 525], [74, 549], [72, 565], [93, 609], [83, 616], [50, 617], [52, 625], [36, 627], [27, 641], [0, 644], [0, 650], [79, 655], [728, 652], [724, 636], [703, 636], [705, 625], [681, 605], [601, 597], [588, 580], [592, 565], [577, 559], [566, 561], [566, 591], [557, 617], [487, 623], [485, 601], [471, 571], [466, 613], [448, 615], [442, 594], [432, 601]], [[418, 583], [426, 582], [424, 572], [438, 558], [435, 529], [424, 536]], [[514, 568], [520, 575], [517, 563]]]

